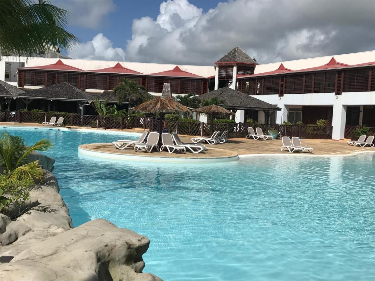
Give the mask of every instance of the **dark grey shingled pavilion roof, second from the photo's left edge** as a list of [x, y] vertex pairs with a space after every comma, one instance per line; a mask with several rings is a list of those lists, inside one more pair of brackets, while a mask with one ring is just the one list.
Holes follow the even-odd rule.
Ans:
[[91, 101], [93, 96], [90, 93], [82, 91], [77, 87], [62, 82], [40, 88], [27, 93], [19, 94], [19, 97], [26, 97], [29, 99], [53, 99], [53, 100], [75, 100], [75, 101]]

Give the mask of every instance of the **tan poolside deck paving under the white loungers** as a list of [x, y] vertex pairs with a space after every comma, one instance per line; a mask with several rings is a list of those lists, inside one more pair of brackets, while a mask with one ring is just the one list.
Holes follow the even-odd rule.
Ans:
[[[41, 127], [40, 124], [33, 123], [5, 123], [0, 122], [1, 126], [29, 126], [29, 127]], [[71, 126], [72, 128], [74, 126]], [[78, 129], [82, 127], [77, 127]], [[90, 128], [85, 128], [90, 129]], [[96, 130], [96, 129], [92, 129]], [[103, 130], [103, 129], [100, 129]], [[117, 130], [120, 131], [120, 130]], [[142, 133], [143, 129], [129, 129], [122, 130], [123, 132], [136, 132]], [[191, 136], [180, 136], [181, 141], [191, 142]], [[169, 154], [168, 152], [135, 152], [133, 148], [125, 150], [118, 150], [111, 144], [90, 144], [86, 145], [85, 148], [92, 149], [93, 151], [102, 151], [108, 153], [117, 154], [128, 154], [128, 155], [144, 155], [144, 156], [158, 156], [158, 157], [176, 157], [176, 158], [215, 158], [215, 157], [228, 157], [229, 155], [246, 155], [246, 154], [293, 154], [296, 157], [304, 157], [305, 155], [345, 155], [353, 154], [353, 152], [375, 152], [375, 148], [362, 148], [352, 145], [347, 145], [345, 140], [333, 141], [330, 139], [303, 139], [302, 144], [304, 146], [310, 146], [314, 148], [314, 152], [310, 153], [289, 153], [287, 150], [280, 151], [282, 145], [281, 140], [276, 139], [272, 141], [255, 141], [254, 139], [236, 138], [229, 139], [228, 143], [219, 145], [208, 145], [206, 144], [207, 151], [202, 154], [185, 153]]]

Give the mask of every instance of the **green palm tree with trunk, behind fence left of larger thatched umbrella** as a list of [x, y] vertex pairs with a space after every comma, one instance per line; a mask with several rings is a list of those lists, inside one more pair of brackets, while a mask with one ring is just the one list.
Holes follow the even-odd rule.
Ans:
[[127, 111], [128, 114], [130, 114], [130, 104], [132, 98], [134, 100], [138, 99], [139, 97], [141, 97], [142, 100], [145, 99], [144, 94], [141, 94], [139, 89], [145, 91], [145, 88], [139, 85], [135, 80], [126, 78], [121, 79], [120, 83], [118, 83], [118, 85], [113, 89], [113, 93], [117, 94], [118, 103], [124, 102], [127, 99], [129, 103], [129, 108]]

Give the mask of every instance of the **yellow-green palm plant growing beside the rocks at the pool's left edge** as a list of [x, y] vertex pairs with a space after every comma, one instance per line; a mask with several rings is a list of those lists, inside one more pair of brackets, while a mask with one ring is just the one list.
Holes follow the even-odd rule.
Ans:
[[41, 139], [37, 143], [26, 146], [19, 136], [2, 133], [0, 136], [0, 169], [10, 179], [24, 179], [34, 185], [34, 179], [42, 179], [43, 170], [39, 160], [28, 162], [28, 155], [32, 151], [46, 151], [53, 145], [48, 139]]

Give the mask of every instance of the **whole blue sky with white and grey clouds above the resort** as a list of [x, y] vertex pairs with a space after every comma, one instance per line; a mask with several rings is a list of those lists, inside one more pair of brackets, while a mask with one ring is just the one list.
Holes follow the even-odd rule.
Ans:
[[72, 58], [213, 65], [234, 46], [271, 63], [375, 49], [374, 0], [52, 0]]

